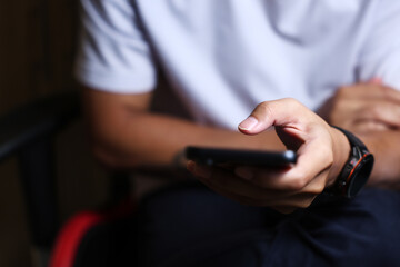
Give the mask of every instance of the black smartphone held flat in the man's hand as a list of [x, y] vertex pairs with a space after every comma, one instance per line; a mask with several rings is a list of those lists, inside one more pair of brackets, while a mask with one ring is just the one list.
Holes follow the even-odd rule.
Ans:
[[292, 150], [266, 151], [209, 147], [187, 147], [187, 159], [209, 166], [242, 165], [253, 167], [288, 167], [296, 164], [297, 156]]

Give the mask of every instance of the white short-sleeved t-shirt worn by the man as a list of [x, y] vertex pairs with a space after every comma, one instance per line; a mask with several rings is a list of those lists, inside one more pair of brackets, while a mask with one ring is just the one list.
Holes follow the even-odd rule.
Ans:
[[284, 97], [317, 109], [373, 77], [400, 89], [399, 0], [81, 1], [78, 79], [140, 93], [160, 67], [202, 123], [236, 129]]

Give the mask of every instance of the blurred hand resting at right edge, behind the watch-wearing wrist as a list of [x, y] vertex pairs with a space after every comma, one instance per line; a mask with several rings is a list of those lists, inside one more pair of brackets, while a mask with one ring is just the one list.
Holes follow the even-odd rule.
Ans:
[[319, 111], [330, 125], [356, 134], [400, 128], [400, 92], [379, 79], [340, 88]]

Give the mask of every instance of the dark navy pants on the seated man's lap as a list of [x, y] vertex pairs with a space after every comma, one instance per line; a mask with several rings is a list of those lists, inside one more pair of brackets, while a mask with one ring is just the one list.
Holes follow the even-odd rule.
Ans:
[[143, 266], [400, 266], [397, 191], [322, 196], [281, 215], [182, 186], [147, 198], [140, 218]]

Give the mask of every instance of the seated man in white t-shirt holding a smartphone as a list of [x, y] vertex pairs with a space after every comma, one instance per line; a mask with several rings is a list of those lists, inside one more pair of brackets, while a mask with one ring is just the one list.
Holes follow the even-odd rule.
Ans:
[[[370, 186], [399, 185], [400, 93], [394, 89], [400, 88], [399, 2], [82, 0], [82, 7], [77, 73], [86, 87], [84, 109], [100, 160], [117, 168], [173, 165], [188, 145], [289, 147], [299, 157], [284, 171], [243, 166], [227, 171], [188, 162], [188, 169], [212, 190], [262, 208], [224, 202], [203, 190], [194, 202], [212, 201], [198, 210], [200, 215], [218, 202], [221, 210], [232, 209], [228, 218], [243, 216], [220, 228], [217, 221], [224, 218], [218, 212], [204, 216], [200, 225], [184, 225], [186, 237], [177, 238], [168, 231], [190, 216], [174, 211], [190, 212], [188, 199], [196, 195], [179, 192], [179, 200], [166, 206], [171, 207], [164, 217], [170, 224], [147, 225], [161, 241], [144, 246], [151, 254], [144, 261], [399, 263], [388, 247], [399, 237], [389, 231], [400, 222], [397, 191], [368, 189], [351, 201], [319, 200], [324, 189], [334, 191], [352, 151], [348, 136], [329, 123], [352, 131], [374, 155]], [[157, 70], [167, 75], [191, 120], [150, 112]], [[311, 110], [320, 110], [324, 120]], [[236, 130], [238, 125], [246, 135]], [[271, 126], [278, 136], [267, 130]], [[261, 233], [229, 239], [243, 229]], [[160, 249], [162, 244], [167, 246]]]

